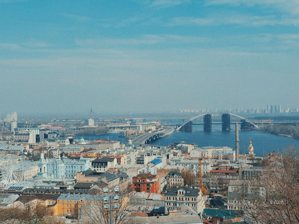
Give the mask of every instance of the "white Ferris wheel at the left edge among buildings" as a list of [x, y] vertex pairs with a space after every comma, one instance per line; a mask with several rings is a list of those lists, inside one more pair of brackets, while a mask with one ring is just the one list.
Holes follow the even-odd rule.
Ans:
[[10, 185], [23, 180], [23, 163], [18, 156], [7, 154], [0, 159], [0, 184]]

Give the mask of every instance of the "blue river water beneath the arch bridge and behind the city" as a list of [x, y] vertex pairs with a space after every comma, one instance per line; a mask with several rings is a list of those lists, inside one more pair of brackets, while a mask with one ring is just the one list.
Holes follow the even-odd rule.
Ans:
[[[161, 121], [162, 122], [162, 121]], [[164, 121], [165, 122], [165, 121]], [[180, 123], [178, 121], [174, 121]], [[170, 123], [168, 121], [167, 123]], [[172, 143], [184, 141], [187, 143], [195, 143], [199, 147], [201, 146], [228, 146], [235, 150], [235, 125], [231, 125], [232, 130], [223, 132], [221, 125], [212, 125], [212, 131], [210, 133], [203, 131], [203, 125], [193, 125], [192, 132], [175, 131], [170, 136], [151, 141], [152, 145], [167, 146]], [[104, 134], [99, 136], [83, 136], [86, 140], [104, 140], [109, 137], [109, 140], [118, 140], [120, 142], [127, 142], [127, 138], [118, 137], [121, 134]], [[80, 138], [81, 136], [76, 136]], [[299, 146], [299, 139], [293, 139], [286, 136], [277, 136], [260, 131], [241, 131], [239, 125], [239, 148], [240, 154], [247, 153], [247, 147], [251, 138], [254, 153], [257, 156], [270, 153], [270, 151], [281, 151], [283, 147], [288, 144], [295, 144]]]

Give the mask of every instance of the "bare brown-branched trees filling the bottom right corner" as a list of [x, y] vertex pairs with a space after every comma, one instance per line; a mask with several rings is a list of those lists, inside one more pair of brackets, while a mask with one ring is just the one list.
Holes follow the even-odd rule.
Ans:
[[299, 223], [299, 148], [288, 145], [263, 168], [239, 192], [246, 217], [253, 224]]

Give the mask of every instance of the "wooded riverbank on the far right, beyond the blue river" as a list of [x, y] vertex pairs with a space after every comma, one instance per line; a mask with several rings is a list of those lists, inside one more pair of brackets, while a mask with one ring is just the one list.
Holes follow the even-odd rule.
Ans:
[[264, 125], [260, 131], [266, 131], [275, 135], [289, 135], [299, 139], [299, 125]]

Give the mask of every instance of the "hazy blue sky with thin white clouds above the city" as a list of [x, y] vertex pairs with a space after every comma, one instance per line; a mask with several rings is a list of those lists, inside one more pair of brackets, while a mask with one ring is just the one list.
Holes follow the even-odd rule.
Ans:
[[0, 0], [1, 117], [299, 107], [298, 0]]

